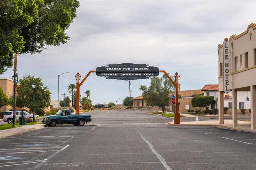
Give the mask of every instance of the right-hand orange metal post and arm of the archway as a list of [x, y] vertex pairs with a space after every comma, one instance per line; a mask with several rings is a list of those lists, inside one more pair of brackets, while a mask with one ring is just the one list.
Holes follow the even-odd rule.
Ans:
[[176, 105], [175, 105], [175, 113], [174, 113], [174, 123], [180, 124], [180, 113], [179, 113], [179, 75], [176, 72], [175, 73], [175, 82], [171, 79], [171, 77], [166, 73], [166, 71], [159, 71], [159, 73], [164, 73], [166, 77], [172, 82], [172, 84], [175, 87], [175, 99], [176, 99]]

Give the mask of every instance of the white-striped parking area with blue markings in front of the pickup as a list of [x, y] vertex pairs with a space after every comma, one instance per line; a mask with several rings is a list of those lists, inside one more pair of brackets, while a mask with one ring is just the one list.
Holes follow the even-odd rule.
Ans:
[[26, 169], [46, 163], [55, 155], [84, 139], [95, 126], [46, 127], [0, 139], [0, 169]]

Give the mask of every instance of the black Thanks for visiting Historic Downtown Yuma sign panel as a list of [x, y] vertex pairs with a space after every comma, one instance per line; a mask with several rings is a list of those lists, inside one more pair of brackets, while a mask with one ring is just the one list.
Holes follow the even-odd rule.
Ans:
[[106, 79], [149, 79], [150, 77], [158, 76], [159, 69], [146, 64], [109, 64], [96, 68], [96, 75]]

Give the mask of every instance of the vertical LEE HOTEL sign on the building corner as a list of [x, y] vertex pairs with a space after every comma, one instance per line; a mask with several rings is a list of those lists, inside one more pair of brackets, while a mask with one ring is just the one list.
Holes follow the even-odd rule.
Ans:
[[223, 42], [224, 92], [230, 92], [230, 42], [225, 38]]

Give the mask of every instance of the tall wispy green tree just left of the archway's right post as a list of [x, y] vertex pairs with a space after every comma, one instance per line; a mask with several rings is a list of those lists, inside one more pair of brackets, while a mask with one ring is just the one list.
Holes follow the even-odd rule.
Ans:
[[[168, 73], [169, 75], [169, 73]], [[173, 76], [170, 76], [173, 79]], [[159, 106], [164, 112], [165, 106], [169, 105], [170, 94], [174, 91], [174, 85], [172, 82], [163, 75], [163, 77], [152, 77], [151, 85], [147, 88], [145, 85], [140, 86], [143, 98], [148, 105]]]

